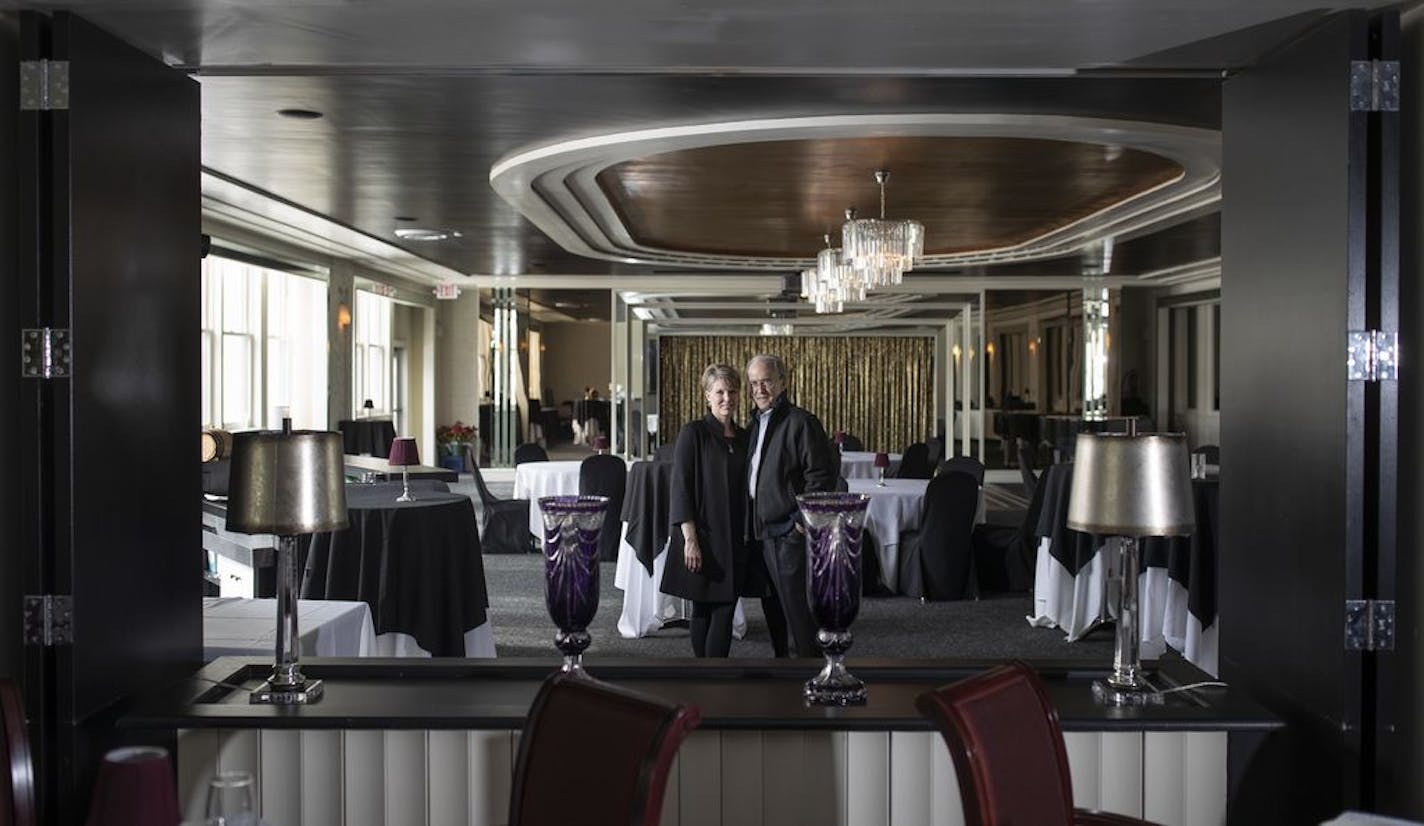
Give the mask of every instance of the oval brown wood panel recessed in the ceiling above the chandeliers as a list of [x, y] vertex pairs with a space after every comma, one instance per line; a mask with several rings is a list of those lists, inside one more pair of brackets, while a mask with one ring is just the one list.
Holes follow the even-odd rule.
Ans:
[[813, 256], [840, 245], [846, 206], [924, 224], [930, 255], [1018, 245], [1171, 182], [1175, 161], [1116, 145], [1035, 138], [763, 141], [678, 150], [602, 169], [629, 235], [661, 249]]

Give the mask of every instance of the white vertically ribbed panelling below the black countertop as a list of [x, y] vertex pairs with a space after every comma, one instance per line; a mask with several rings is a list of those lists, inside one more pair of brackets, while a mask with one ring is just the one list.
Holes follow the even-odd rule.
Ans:
[[[1166, 826], [1226, 822], [1225, 732], [1069, 732], [1074, 800]], [[178, 732], [185, 820], [208, 778], [256, 778], [282, 826], [508, 819], [518, 732]], [[964, 826], [948, 749], [931, 732], [693, 732], [668, 778], [664, 826]]]

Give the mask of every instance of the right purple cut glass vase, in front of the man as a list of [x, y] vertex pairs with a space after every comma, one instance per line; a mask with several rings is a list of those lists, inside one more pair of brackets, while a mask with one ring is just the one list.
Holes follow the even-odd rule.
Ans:
[[806, 523], [806, 591], [826, 654], [820, 674], [806, 681], [813, 705], [866, 702], [866, 684], [846, 671], [850, 624], [860, 612], [860, 541], [870, 497], [863, 493], [797, 496]]

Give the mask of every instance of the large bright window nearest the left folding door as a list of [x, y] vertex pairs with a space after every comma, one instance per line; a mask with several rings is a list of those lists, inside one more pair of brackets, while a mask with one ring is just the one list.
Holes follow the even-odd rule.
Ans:
[[326, 427], [326, 283], [209, 255], [202, 262], [206, 427]]

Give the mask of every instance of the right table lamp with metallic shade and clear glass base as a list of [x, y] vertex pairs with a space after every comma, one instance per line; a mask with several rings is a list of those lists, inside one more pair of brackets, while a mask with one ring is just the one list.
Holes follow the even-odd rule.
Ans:
[[1074, 449], [1068, 527], [1122, 537], [1118, 629], [1112, 674], [1092, 685], [1108, 705], [1148, 705], [1162, 695], [1142, 676], [1138, 618], [1138, 540], [1185, 537], [1196, 530], [1186, 436], [1180, 433], [1079, 433]]

